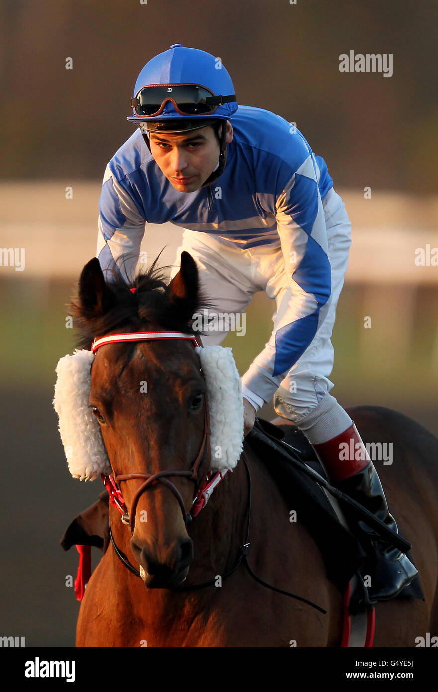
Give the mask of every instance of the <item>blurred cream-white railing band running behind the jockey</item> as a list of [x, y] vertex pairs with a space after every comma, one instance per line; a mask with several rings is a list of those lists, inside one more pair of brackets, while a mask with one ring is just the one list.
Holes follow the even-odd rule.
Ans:
[[[71, 192], [66, 187], [61, 181], [0, 183], [0, 251], [26, 251], [25, 270], [5, 261], [0, 277], [75, 280], [94, 257], [100, 183], [73, 181]], [[365, 199], [355, 190], [339, 192], [353, 224], [347, 284], [438, 284], [438, 197], [372, 192]], [[161, 264], [172, 264], [181, 235], [172, 224], [147, 225], [143, 260], [152, 262], [167, 246]]]

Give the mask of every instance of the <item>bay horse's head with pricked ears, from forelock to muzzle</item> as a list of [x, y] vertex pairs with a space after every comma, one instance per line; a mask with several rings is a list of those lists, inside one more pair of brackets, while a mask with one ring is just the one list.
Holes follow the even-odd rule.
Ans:
[[[179, 273], [168, 286], [155, 265], [131, 287], [122, 280], [105, 282], [98, 260], [82, 270], [71, 308], [81, 345], [91, 347], [77, 352], [91, 367], [86, 408], [93, 419], [86, 424], [86, 435], [97, 424], [107, 458], [96, 462], [93, 471], [71, 471], [91, 480], [96, 471], [111, 473], [129, 511], [130, 548], [145, 585], [172, 588], [183, 583], [192, 563], [190, 508], [210, 471], [208, 399], [210, 408], [212, 402], [200, 357], [208, 348], [199, 349], [194, 336], [190, 338], [193, 314], [209, 303], [201, 295], [197, 267], [188, 253], [182, 253]], [[166, 330], [189, 338], [155, 336]], [[98, 343], [102, 337], [140, 332], [154, 334]], [[199, 336], [197, 340], [200, 343]], [[61, 421], [60, 415], [62, 434]], [[243, 439], [243, 430], [240, 435]], [[86, 463], [93, 463], [94, 454], [95, 446]], [[228, 461], [231, 470], [238, 458], [239, 450], [234, 462]]]

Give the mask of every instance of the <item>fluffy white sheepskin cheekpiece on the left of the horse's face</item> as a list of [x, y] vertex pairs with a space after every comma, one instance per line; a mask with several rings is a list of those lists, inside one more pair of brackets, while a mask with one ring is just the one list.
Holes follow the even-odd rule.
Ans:
[[64, 451], [73, 478], [94, 480], [111, 473], [98, 421], [91, 411], [91, 351], [75, 351], [57, 364], [53, 406], [59, 418]]

